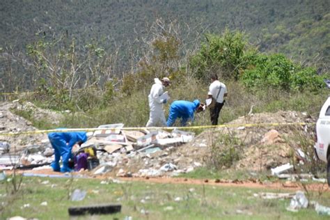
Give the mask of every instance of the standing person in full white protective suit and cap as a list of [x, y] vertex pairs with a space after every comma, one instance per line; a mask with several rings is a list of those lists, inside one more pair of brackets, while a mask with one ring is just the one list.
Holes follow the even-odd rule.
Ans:
[[152, 85], [150, 94], [148, 95], [150, 116], [146, 127], [156, 126], [157, 123], [161, 123], [166, 127], [166, 118], [164, 116], [163, 104], [167, 102], [166, 99], [162, 99], [161, 95], [164, 93], [164, 88], [171, 83], [167, 77], [159, 80], [155, 78], [155, 84]]

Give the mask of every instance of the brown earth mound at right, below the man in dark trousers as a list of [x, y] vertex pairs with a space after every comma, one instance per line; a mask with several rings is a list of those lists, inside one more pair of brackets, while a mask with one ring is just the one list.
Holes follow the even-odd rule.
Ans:
[[[292, 155], [301, 164], [306, 162], [308, 152], [301, 150], [297, 136], [308, 136], [313, 132], [313, 125], [284, 125], [286, 123], [313, 123], [315, 119], [307, 113], [296, 111], [278, 111], [276, 113], [256, 113], [243, 116], [228, 123], [228, 127], [219, 127], [203, 132], [194, 140], [194, 144], [202, 146], [221, 145], [221, 136], [239, 140], [239, 161], [235, 169], [251, 171], [270, 170], [276, 166], [287, 164]], [[274, 126], [262, 126], [273, 123]], [[283, 125], [276, 125], [276, 123]], [[258, 125], [260, 124], [260, 125]], [[235, 125], [230, 127], [230, 125]], [[245, 126], [244, 126], [245, 125]], [[253, 125], [249, 127], [249, 125]], [[206, 140], [206, 141], [205, 141]], [[204, 142], [203, 142], [204, 141]], [[219, 146], [221, 149], [221, 146]], [[206, 155], [210, 155], [208, 148]], [[312, 149], [313, 150], [313, 149]]]

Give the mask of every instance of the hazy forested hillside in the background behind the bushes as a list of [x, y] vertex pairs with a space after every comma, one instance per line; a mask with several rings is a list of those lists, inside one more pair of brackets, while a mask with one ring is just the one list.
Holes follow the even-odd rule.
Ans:
[[178, 20], [182, 33], [196, 35], [228, 26], [249, 34], [262, 52], [329, 66], [329, 0], [1, 0], [0, 11], [3, 48], [22, 50], [36, 33], [68, 31], [81, 45], [93, 38], [106, 49], [120, 45], [125, 54], [134, 38], [142, 38], [148, 24], [162, 17]]

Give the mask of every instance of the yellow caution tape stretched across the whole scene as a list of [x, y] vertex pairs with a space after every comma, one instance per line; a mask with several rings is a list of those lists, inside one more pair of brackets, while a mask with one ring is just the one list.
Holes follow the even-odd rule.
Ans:
[[111, 129], [121, 129], [121, 130], [141, 130], [141, 129], [207, 129], [207, 128], [217, 128], [217, 127], [270, 127], [270, 126], [290, 126], [290, 125], [315, 125], [315, 123], [254, 123], [254, 124], [225, 124], [225, 125], [203, 125], [203, 126], [190, 126], [190, 127], [122, 127], [122, 128], [67, 128], [67, 129], [47, 129], [47, 130], [35, 130], [28, 132], [9, 132], [0, 133], [0, 136], [15, 136], [23, 134], [46, 134], [51, 132], [95, 132], [100, 130], [111, 130]]

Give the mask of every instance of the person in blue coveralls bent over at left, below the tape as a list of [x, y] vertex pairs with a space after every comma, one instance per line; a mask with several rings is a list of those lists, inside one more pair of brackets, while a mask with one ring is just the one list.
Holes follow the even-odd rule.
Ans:
[[[53, 132], [48, 134], [48, 138], [54, 148], [55, 160], [51, 166], [56, 172], [71, 172], [69, 160], [72, 159], [72, 147], [74, 144], [79, 146], [87, 141], [86, 132]], [[62, 157], [63, 166], [60, 167], [60, 159]]]

